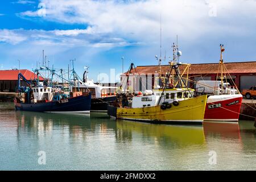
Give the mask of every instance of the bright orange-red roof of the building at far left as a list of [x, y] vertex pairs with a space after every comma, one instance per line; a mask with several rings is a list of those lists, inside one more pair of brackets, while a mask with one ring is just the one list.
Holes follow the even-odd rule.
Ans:
[[[22, 73], [22, 75], [27, 80], [34, 80], [34, 78], [37, 78], [37, 75], [35, 75], [33, 72], [29, 71], [28, 69], [20, 69], [20, 70], [0, 70], [0, 80], [18, 80], [18, 74]], [[39, 77], [40, 81], [43, 81], [43, 77]]]

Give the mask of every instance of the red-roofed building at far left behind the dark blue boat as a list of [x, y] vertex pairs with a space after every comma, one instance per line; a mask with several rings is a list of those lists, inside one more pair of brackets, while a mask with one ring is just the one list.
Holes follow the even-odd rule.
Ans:
[[[19, 73], [22, 73], [27, 80], [34, 80], [37, 78], [37, 75], [28, 69], [0, 70], [0, 92], [16, 92]], [[39, 80], [43, 81], [44, 79], [43, 77], [39, 77]], [[20, 81], [20, 84], [26, 86], [26, 82], [23, 80]]]

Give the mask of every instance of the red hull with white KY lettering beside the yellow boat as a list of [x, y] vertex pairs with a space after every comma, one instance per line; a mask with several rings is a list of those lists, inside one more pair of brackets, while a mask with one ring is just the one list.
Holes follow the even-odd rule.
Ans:
[[207, 103], [204, 120], [208, 121], [238, 121], [242, 97]]

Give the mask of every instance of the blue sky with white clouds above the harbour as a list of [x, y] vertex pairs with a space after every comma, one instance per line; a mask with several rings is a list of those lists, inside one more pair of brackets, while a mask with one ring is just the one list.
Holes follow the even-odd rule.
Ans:
[[172, 55], [179, 38], [186, 63], [217, 63], [219, 45], [224, 59], [252, 61], [256, 58], [255, 0], [10, 0], [0, 6], [0, 69], [31, 69], [42, 64], [44, 49], [50, 65], [75, 67], [82, 74], [89, 66], [90, 78], [98, 73], [122, 72], [135, 65], [157, 64], [160, 54]]

